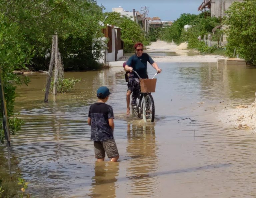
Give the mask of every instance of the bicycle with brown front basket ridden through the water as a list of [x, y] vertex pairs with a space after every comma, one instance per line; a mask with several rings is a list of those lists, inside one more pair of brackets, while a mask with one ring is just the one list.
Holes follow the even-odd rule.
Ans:
[[[132, 116], [140, 118], [141, 114], [142, 114], [144, 122], [147, 122], [147, 121], [154, 122], [155, 103], [154, 103], [154, 99], [151, 95], [151, 92], [155, 92], [156, 79], [154, 79], [154, 78], [158, 73], [156, 73], [154, 75], [154, 77], [152, 78], [152, 79], [154, 79], [154, 81], [153, 82], [151, 81], [151, 83], [149, 83], [152, 85], [152, 87], [148, 87], [148, 89], [146, 89], [149, 91], [145, 92], [145, 87], [143, 87], [143, 92], [142, 92], [141, 91], [142, 90], [141, 82], [143, 80], [148, 81], [149, 79], [142, 79], [136, 71], [133, 71], [133, 72], [136, 73], [140, 79], [140, 94], [139, 94], [139, 97], [136, 98], [136, 106], [135, 105], [132, 106]], [[146, 85], [144, 85], [144, 86], [146, 86]]]

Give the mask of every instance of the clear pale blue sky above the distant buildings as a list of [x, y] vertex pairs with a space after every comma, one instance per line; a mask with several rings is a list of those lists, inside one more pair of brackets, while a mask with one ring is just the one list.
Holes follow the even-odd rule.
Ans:
[[149, 17], [158, 16], [162, 21], [173, 21], [183, 13], [200, 14], [197, 8], [203, 0], [96, 0], [103, 5], [103, 12], [112, 12], [112, 8], [122, 6], [124, 10], [140, 11], [141, 7], [149, 7]]

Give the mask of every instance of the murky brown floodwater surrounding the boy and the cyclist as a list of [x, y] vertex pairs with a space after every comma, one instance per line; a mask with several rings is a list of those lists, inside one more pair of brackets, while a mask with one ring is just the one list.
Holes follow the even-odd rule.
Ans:
[[[222, 101], [254, 100], [256, 69], [159, 66], [153, 124], [125, 115], [127, 85], [120, 68], [67, 72], [65, 77], [82, 81], [70, 93], [50, 95], [48, 104], [42, 91], [46, 75], [30, 75], [29, 86], [17, 88], [16, 111], [25, 124], [11, 137], [11, 155], [31, 182], [28, 192], [40, 198], [256, 197], [255, 134], [215, 118]], [[155, 71], [149, 66], [148, 72]], [[118, 163], [95, 163], [90, 141], [87, 112], [102, 85], [112, 92], [108, 104], [115, 114]], [[5, 146], [0, 150], [6, 155]]]

